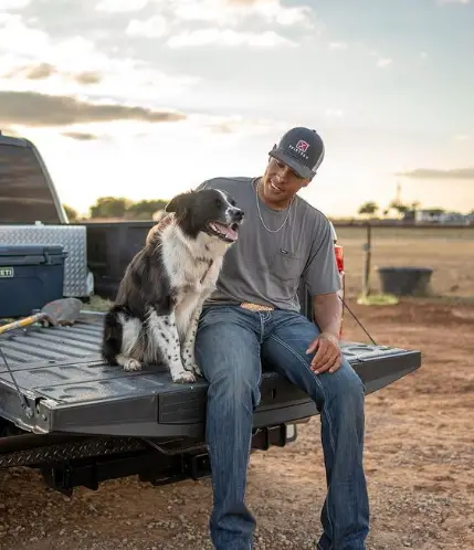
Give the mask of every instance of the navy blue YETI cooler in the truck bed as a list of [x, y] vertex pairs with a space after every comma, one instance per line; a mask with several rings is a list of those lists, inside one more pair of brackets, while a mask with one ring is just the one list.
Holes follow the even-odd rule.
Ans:
[[27, 317], [63, 297], [62, 245], [0, 245], [0, 318]]

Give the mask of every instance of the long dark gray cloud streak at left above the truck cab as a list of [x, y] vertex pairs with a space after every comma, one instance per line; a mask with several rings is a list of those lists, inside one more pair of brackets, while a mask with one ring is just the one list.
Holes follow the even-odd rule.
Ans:
[[112, 120], [173, 123], [185, 118], [181, 113], [138, 106], [95, 104], [35, 92], [0, 92], [0, 123], [9, 125], [48, 127]]

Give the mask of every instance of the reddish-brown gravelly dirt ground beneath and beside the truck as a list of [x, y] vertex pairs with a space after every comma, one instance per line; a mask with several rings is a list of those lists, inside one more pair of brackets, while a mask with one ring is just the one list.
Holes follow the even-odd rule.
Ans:
[[[351, 308], [381, 342], [423, 352], [422, 368], [367, 399], [368, 550], [474, 549], [474, 307], [403, 300]], [[346, 313], [346, 338], [367, 337]], [[315, 548], [325, 496], [319, 417], [286, 448], [252, 456], [257, 550]], [[0, 548], [211, 549], [209, 479], [154, 488], [136, 478], [66, 498], [21, 468], [0, 472]]]

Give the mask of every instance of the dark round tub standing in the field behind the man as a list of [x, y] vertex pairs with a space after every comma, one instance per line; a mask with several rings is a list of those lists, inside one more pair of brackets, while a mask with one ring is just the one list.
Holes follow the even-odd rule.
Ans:
[[428, 296], [430, 267], [379, 267], [381, 290], [397, 296]]

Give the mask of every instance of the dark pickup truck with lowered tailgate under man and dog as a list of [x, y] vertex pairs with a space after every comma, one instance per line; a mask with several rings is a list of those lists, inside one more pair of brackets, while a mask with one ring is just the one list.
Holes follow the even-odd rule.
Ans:
[[[38, 220], [70, 223], [36, 147], [0, 133], [0, 223], [34, 226]], [[113, 298], [152, 222], [85, 225], [95, 292]], [[335, 245], [344, 277], [336, 235]], [[299, 299], [310, 318], [304, 285]], [[127, 373], [104, 364], [98, 353], [103, 313], [87, 307], [84, 300], [71, 327], [32, 326], [0, 337], [0, 467], [36, 468], [49, 487], [66, 495], [131, 475], [155, 485], [209, 476], [207, 382], [173, 384], [158, 367]], [[341, 349], [367, 394], [421, 366], [418, 350], [344, 340]], [[252, 448], [291, 444], [298, 424], [317, 414], [304, 391], [266, 369]]]

